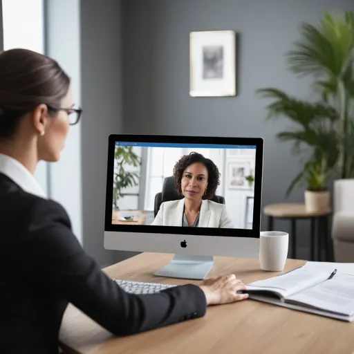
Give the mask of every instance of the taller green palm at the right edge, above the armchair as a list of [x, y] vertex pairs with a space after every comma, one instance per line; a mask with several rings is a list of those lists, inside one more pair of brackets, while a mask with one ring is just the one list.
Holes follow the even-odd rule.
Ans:
[[354, 158], [348, 144], [354, 138], [354, 12], [346, 11], [343, 16], [324, 12], [318, 26], [304, 23], [300, 31], [301, 39], [287, 53], [290, 70], [301, 77], [313, 76], [322, 102], [338, 111], [339, 175], [350, 178]]

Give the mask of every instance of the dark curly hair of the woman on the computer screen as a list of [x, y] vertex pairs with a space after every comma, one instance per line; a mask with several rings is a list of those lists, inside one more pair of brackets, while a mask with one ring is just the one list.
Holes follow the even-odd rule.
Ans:
[[220, 172], [212, 160], [205, 158], [201, 153], [197, 152], [191, 152], [189, 155], [182, 156], [180, 160], [176, 162], [176, 165], [174, 165], [174, 183], [176, 185], [177, 192], [178, 194], [182, 193], [180, 189], [180, 182], [182, 180], [183, 171], [185, 171], [188, 166], [196, 162], [200, 162], [207, 167], [207, 191], [203, 196], [203, 199], [210, 199], [214, 196], [218, 185], [220, 185]]

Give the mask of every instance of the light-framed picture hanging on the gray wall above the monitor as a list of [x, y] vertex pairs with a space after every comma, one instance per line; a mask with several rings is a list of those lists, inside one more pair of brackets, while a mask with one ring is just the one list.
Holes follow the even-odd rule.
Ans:
[[236, 32], [189, 33], [189, 95], [236, 96]]

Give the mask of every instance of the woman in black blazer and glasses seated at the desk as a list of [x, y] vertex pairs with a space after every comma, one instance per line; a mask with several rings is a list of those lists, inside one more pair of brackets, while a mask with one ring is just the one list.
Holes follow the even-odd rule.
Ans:
[[[100, 270], [71, 231], [64, 208], [33, 174], [55, 162], [81, 109], [53, 59], [30, 50], [0, 53], [0, 347], [4, 353], [57, 353], [68, 302], [115, 335], [202, 317], [208, 305], [245, 299], [233, 274], [201, 286], [129, 295]], [[68, 181], [69, 183], [69, 181]]]

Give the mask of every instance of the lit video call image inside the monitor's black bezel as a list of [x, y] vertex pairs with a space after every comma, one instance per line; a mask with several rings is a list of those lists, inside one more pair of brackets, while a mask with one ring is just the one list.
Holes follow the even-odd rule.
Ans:
[[252, 229], [253, 145], [115, 142], [112, 223]]

